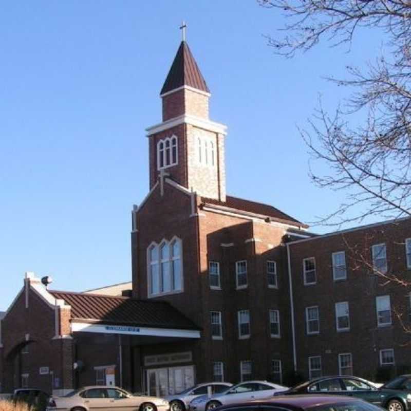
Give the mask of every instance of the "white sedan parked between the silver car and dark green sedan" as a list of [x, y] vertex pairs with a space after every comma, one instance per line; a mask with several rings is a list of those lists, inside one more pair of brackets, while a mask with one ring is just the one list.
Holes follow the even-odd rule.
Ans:
[[220, 405], [269, 398], [275, 395], [275, 393], [287, 390], [288, 387], [267, 381], [246, 381], [234, 385], [220, 394], [215, 394], [211, 397], [204, 395], [195, 398], [190, 403], [190, 411], [211, 411]]

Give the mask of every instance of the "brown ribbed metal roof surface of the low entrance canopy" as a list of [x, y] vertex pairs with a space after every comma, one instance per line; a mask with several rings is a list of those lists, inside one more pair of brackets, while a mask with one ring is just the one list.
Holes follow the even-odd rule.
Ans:
[[71, 306], [71, 320], [138, 327], [199, 329], [181, 312], [163, 301], [67, 291], [50, 293]]

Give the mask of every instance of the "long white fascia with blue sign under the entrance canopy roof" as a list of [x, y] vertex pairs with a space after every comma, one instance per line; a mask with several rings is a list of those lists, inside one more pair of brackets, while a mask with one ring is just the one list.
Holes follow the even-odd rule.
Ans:
[[199, 330], [173, 328], [129, 327], [104, 324], [71, 323], [72, 332], [98, 332], [102, 334], [148, 335], [151, 337], [195, 338], [201, 337]]

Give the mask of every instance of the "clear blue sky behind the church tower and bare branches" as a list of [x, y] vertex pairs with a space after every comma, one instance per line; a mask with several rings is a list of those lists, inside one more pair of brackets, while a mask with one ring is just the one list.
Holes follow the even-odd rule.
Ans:
[[363, 32], [350, 53], [324, 44], [285, 59], [264, 38], [284, 17], [254, 0], [2, 2], [0, 310], [25, 271], [61, 290], [130, 281], [130, 210], [148, 191], [144, 129], [161, 121], [182, 20], [211, 119], [229, 127], [228, 193], [304, 222], [337, 207], [340, 194], [310, 183], [296, 126], [320, 94], [330, 111], [346, 96], [324, 77], [372, 58], [376, 36]]

